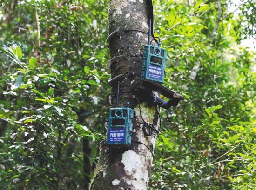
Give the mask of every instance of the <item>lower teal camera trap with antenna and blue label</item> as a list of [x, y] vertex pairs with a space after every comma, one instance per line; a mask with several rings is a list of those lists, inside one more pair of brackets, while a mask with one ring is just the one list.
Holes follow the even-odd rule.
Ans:
[[127, 107], [118, 107], [119, 81], [117, 86], [116, 108], [110, 108], [108, 112], [107, 144], [129, 146], [132, 142], [134, 111], [129, 108], [129, 102]]

